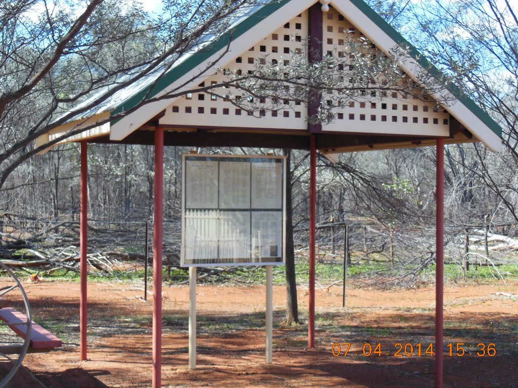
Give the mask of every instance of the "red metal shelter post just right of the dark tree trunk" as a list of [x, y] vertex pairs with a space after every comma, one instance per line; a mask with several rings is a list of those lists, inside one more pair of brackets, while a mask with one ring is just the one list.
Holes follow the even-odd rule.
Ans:
[[315, 347], [316, 141], [310, 140], [309, 175], [309, 323], [308, 348]]

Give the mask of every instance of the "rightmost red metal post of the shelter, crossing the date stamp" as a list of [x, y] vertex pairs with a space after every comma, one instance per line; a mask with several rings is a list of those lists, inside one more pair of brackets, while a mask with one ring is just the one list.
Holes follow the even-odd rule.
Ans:
[[437, 219], [435, 281], [435, 387], [443, 384], [443, 278], [444, 278], [444, 139], [437, 139]]

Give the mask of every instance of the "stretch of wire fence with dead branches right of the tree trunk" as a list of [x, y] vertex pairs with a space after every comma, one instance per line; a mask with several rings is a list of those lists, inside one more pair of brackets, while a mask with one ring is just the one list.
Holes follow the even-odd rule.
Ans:
[[[482, 266], [491, 276], [514, 276], [506, 265], [518, 265], [516, 225], [445, 227], [444, 264], [462, 278]], [[386, 228], [362, 223], [332, 223], [316, 228], [316, 260], [319, 263], [348, 261], [358, 277], [376, 278], [387, 286], [435, 277], [435, 227]], [[348, 240], [348, 252], [345, 241]], [[297, 229], [294, 243], [299, 256], [309, 250], [309, 229]], [[354, 266], [361, 270], [354, 270]], [[503, 270], [500, 270], [503, 268]], [[430, 271], [431, 270], [431, 271]]]

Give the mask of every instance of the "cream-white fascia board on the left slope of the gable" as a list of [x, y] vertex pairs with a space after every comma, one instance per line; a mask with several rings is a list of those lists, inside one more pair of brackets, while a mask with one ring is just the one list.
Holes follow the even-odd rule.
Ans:
[[[264, 20], [248, 29], [248, 31], [244, 32], [236, 40], [232, 41], [231, 46], [229, 47], [229, 51], [223, 55], [217, 63], [214, 64], [214, 67], [226, 65], [236, 55], [246, 52], [250, 47], [254, 46], [258, 41], [263, 39], [264, 36], [268, 34], [268, 32], [275, 31], [286, 22], [295, 18], [299, 13], [304, 12], [306, 9], [311, 7], [314, 3], [314, 0], [297, 0], [287, 3], [276, 12], [273, 12]], [[260, 37], [260, 39], [257, 39], [257, 37]], [[225, 52], [226, 49], [227, 48], [225, 47], [219, 50], [217, 53], [208, 58], [207, 61], [205, 61], [205, 64], [215, 62], [217, 58]], [[164, 96], [167, 93], [174, 91], [175, 88], [188, 82], [196, 74], [205, 71], [205, 73], [207, 73], [206, 76], [196, 78], [189, 84], [185, 84], [183, 88], [185, 91], [189, 91], [189, 89], [195, 87], [204, 79], [212, 76], [212, 72], [209, 70], [210, 69], [205, 66], [198, 66], [195, 70], [186, 73], [184, 76], [180, 77], [178, 80], [166, 87], [162, 92], [157, 94], [157, 97]], [[124, 116], [121, 118], [121, 120], [111, 126], [110, 140], [120, 141], [124, 139], [140, 126], [147, 123], [152, 117], [166, 109], [167, 106], [169, 106], [170, 103], [176, 98], [166, 98], [164, 100], [148, 103], [137, 109], [135, 112]]]

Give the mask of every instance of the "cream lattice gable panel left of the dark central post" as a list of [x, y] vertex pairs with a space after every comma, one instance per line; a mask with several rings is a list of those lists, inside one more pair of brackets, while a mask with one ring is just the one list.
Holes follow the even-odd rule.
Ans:
[[[257, 65], [278, 65], [282, 72], [284, 65], [289, 66], [291, 53], [302, 52], [308, 39], [308, 12], [299, 14], [281, 28], [268, 34], [249, 51], [236, 56], [230, 63], [204, 81], [200, 86], [220, 84], [228, 81], [225, 73], [246, 74], [254, 71]], [[287, 62], [285, 62], [287, 61]], [[293, 94], [293, 93], [289, 93]], [[178, 127], [236, 127], [265, 129], [307, 129], [307, 106], [303, 101], [283, 100], [276, 104], [275, 110], [255, 109], [247, 111], [229, 102], [226, 96], [241, 99], [243, 105], [251, 98], [246, 92], [235, 88], [217, 88], [214, 94], [191, 93], [176, 99], [161, 118], [160, 124]], [[269, 101], [258, 101], [270, 106]], [[257, 101], [253, 101], [257, 105]], [[281, 105], [279, 105], [279, 103]]]

